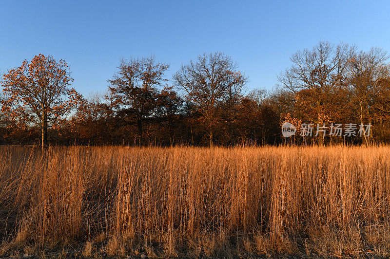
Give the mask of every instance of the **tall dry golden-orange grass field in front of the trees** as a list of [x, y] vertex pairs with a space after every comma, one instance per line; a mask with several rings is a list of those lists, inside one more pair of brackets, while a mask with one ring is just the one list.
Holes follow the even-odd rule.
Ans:
[[389, 186], [389, 147], [1, 147], [0, 256], [386, 257]]

